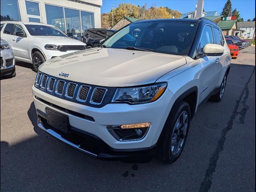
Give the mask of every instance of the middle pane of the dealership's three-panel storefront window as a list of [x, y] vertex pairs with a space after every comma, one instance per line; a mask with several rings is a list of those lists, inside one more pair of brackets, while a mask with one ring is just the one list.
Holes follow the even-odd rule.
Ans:
[[81, 33], [79, 11], [64, 8], [66, 19], [66, 33]]

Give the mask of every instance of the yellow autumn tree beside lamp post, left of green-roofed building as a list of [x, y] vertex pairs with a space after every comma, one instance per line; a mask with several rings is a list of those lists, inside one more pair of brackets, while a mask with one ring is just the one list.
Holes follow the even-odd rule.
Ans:
[[[114, 9], [114, 25], [124, 16], [139, 18], [140, 8], [136, 5], [130, 3], [119, 4], [117, 8]], [[108, 14], [108, 21], [112, 24], [112, 10]]]

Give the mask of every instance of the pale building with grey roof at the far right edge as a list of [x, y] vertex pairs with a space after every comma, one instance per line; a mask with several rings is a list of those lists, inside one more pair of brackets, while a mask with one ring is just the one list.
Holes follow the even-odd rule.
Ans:
[[244, 31], [243, 34], [240, 31], [236, 31], [242, 38], [253, 39], [255, 37], [255, 21], [238, 22], [237, 27], [239, 30]]

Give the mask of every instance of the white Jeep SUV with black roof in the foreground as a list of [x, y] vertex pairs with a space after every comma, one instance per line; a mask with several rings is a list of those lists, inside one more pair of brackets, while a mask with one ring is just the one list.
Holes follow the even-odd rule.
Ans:
[[38, 126], [96, 158], [149, 161], [158, 151], [171, 163], [198, 108], [222, 100], [230, 62], [206, 18], [134, 22], [98, 48], [40, 66]]

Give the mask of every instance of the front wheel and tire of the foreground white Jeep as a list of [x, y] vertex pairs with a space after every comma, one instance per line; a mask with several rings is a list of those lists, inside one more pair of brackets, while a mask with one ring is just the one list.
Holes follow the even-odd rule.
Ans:
[[158, 157], [165, 163], [172, 163], [180, 156], [190, 126], [191, 110], [187, 102], [176, 104], [164, 125]]

